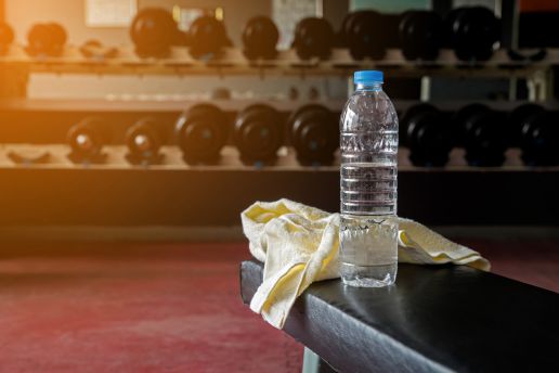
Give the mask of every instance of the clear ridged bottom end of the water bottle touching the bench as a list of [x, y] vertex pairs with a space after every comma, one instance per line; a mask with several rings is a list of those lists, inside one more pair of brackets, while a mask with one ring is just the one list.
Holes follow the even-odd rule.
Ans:
[[353, 287], [385, 287], [395, 282], [398, 263], [382, 266], [355, 266], [342, 262], [341, 281]]

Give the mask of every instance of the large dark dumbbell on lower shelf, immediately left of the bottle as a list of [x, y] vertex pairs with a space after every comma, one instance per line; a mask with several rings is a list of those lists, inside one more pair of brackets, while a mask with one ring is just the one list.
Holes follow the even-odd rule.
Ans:
[[289, 118], [290, 142], [302, 165], [328, 165], [339, 146], [338, 115], [311, 104], [297, 110]]

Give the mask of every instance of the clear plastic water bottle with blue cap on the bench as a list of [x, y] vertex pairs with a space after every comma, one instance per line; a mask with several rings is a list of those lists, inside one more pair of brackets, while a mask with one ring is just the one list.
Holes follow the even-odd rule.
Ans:
[[340, 119], [340, 271], [360, 287], [393, 284], [398, 270], [398, 115], [381, 72], [356, 72]]

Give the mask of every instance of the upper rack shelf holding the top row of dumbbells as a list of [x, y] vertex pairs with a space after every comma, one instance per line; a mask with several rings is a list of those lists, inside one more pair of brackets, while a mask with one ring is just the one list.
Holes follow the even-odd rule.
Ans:
[[[506, 51], [498, 50], [493, 57], [482, 63], [468, 63], [456, 59], [452, 50], [442, 50], [432, 62], [406, 61], [399, 49], [390, 49], [379, 61], [354, 61], [346, 49], [334, 49], [326, 61], [300, 60], [294, 50], [282, 51], [275, 60], [249, 61], [238, 48], [225, 48], [219, 59], [199, 61], [188, 54], [187, 48], [176, 47], [167, 59], [141, 59], [133, 47], [118, 48], [115, 57], [86, 57], [77, 47], [67, 47], [60, 57], [30, 57], [23, 46], [12, 46], [10, 52], [0, 56], [0, 72], [5, 74], [3, 94], [0, 97], [25, 97], [28, 75], [93, 74], [93, 75], [251, 75], [265, 76], [339, 76], [349, 77], [355, 69], [379, 68], [391, 77], [494, 77], [528, 78], [533, 81], [534, 99], [545, 99], [546, 81], [550, 68], [559, 65], [559, 49], [548, 50], [538, 62], [511, 61]], [[15, 74], [14, 74], [15, 73]], [[542, 88], [543, 86], [543, 88]]]

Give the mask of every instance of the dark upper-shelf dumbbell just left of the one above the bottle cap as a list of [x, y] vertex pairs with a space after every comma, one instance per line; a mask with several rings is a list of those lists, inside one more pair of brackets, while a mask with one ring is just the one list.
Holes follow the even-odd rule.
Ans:
[[334, 29], [328, 21], [307, 17], [295, 27], [292, 47], [301, 60], [318, 57], [325, 60], [330, 55], [334, 44]]

